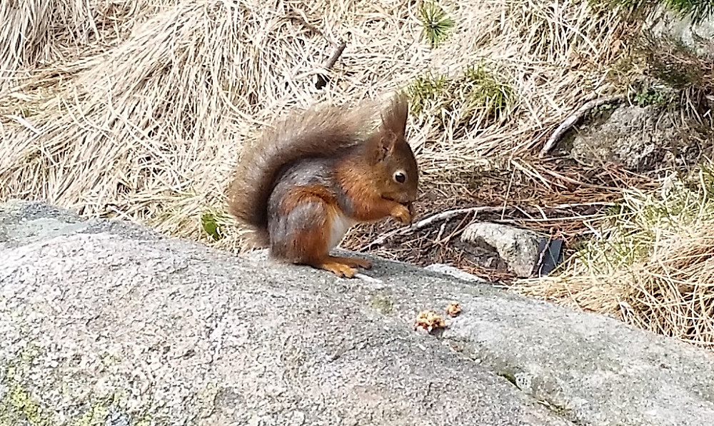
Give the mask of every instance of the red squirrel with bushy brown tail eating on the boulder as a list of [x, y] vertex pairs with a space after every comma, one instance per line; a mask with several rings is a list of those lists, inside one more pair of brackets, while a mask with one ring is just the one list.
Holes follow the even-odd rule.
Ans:
[[411, 223], [418, 166], [405, 138], [406, 96], [398, 94], [366, 132], [368, 107], [292, 116], [244, 150], [228, 205], [272, 258], [352, 278], [363, 258], [330, 255], [356, 223]]

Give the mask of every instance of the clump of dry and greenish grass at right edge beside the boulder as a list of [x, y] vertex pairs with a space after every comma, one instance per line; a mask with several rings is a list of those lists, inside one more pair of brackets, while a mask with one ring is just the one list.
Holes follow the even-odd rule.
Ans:
[[714, 348], [713, 194], [710, 163], [660, 191], [628, 191], [560, 275], [513, 288]]

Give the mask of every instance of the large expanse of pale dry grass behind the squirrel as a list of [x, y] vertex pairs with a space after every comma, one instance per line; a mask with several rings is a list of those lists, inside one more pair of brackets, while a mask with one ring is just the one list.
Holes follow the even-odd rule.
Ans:
[[[458, 79], [481, 67], [513, 93], [498, 119], [471, 113], [480, 98], [464, 92], [451, 115], [435, 104], [409, 126], [425, 188], [458, 198], [459, 176], [527, 153], [581, 98], [608, 88], [603, 64], [619, 31], [614, 12], [580, 2], [442, 3], [456, 26], [438, 49], [407, 0], [90, 0], [66, 16], [20, 3], [36, 12], [18, 15], [19, 31], [75, 25], [15, 44], [17, 60], [3, 64], [45, 72], [21, 78], [0, 103], [0, 198], [43, 198], [196, 239], [207, 236], [207, 211], [231, 223], [223, 188], [240, 147], [284, 108], [378, 99], [427, 71]], [[111, 8], [124, 14], [109, 19]], [[347, 49], [318, 91], [315, 74], [341, 39]], [[39, 66], [45, 56], [54, 63]], [[233, 247], [236, 230], [221, 232], [228, 238], [217, 244]]]

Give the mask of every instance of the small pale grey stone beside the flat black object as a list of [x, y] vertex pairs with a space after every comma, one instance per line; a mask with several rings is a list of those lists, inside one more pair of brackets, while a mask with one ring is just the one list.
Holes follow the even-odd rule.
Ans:
[[532, 230], [491, 222], [471, 223], [461, 233], [463, 242], [498, 253], [508, 270], [519, 277], [533, 272], [541, 238]]

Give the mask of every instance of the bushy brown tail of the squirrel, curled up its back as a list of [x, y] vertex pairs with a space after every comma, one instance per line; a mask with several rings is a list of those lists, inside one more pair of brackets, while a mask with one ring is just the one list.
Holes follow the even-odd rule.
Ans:
[[243, 147], [228, 188], [228, 208], [239, 222], [268, 244], [268, 198], [281, 168], [306, 158], [330, 158], [358, 143], [371, 118], [368, 108], [330, 107], [292, 115]]

